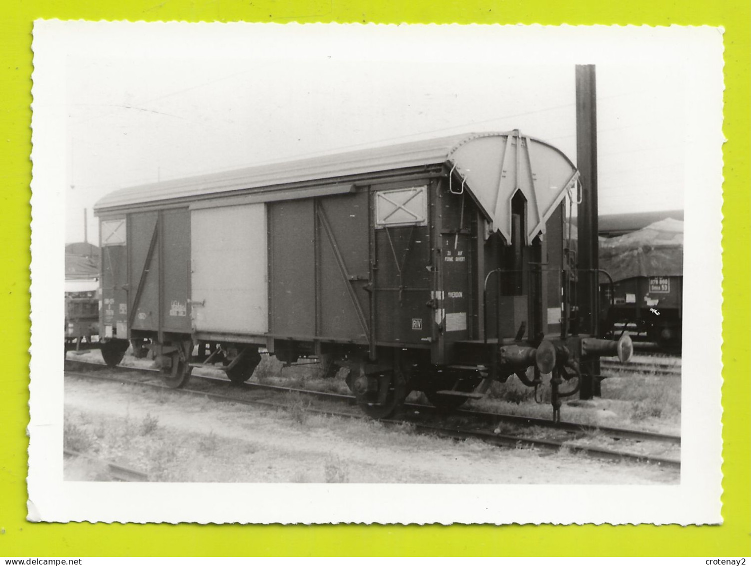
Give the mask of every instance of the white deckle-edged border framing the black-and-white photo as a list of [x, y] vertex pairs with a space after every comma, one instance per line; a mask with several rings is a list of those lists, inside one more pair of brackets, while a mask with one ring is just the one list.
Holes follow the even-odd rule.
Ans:
[[[249, 36], [274, 56], [435, 62], [447, 37], [514, 65], [676, 65], [686, 77], [680, 484], [412, 485], [65, 482], [62, 477], [66, 62], [237, 56]], [[128, 41], [138, 38], [138, 41]], [[260, 39], [259, 39], [260, 38]], [[306, 49], [300, 47], [305, 45]], [[372, 46], [379, 46], [373, 49]], [[347, 47], [345, 49], [345, 46]], [[412, 46], [412, 47], [410, 47]], [[419, 49], [415, 46], [419, 46]], [[29, 520], [198, 523], [722, 522], [722, 29], [649, 26], [375, 26], [39, 20], [32, 75], [32, 359]], [[495, 53], [495, 55], [493, 55]], [[444, 60], [461, 76], [461, 57]], [[258, 56], [257, 54], [253, 56]], [[572, 71], [573, 72], [573, 71]]]

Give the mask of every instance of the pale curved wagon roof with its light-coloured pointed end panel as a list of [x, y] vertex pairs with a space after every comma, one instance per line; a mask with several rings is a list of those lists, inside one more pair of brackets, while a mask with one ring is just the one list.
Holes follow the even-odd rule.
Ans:
[[[511, 142], [507, 143], [509, 140]], [[517, 152], [519, 147], [524, 150]], [[520, 189], [525, 192], [527, 200], [536, 205], [531, 207], [535, 210], [528, 223], [532, 234], [544, 231], [544, 220], [551, 212], [548, 209], [562, 198], [560, 192], [575, 182], [575, 167], [563, 153], [514, 130], [451, 135], [134, 186], [101, 198], [95, 204], [95, 210], [195, 201], [238, 192], [253, 193], [256, 192], [254, 189], [266, 193], [273, 192], [275, 186], [288, 189], [294, 183], [313, 181], [320, 184], [327, 179], [342, 182], [342, 177], [358, 174], [444, 163], [453, 168], [462, 184], [466, 183], [496, 229], [507, 238], [510, 237], [512, 193]], [[535, 181], [541, 185], [541, 190], [535, 187]], [[499, 192], [508, 183], [515, 183], [510, 188], [511, 194], [507, 195], [508, 199], [501, 198]], [[505, 187], [505, 192], [508, 189]]]

